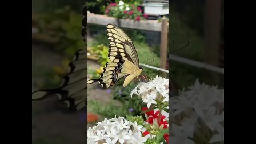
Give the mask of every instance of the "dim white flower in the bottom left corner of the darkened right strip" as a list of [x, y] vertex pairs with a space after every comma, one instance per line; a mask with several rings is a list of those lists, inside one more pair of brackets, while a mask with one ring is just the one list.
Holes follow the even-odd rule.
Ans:
[[171, 132], [174, 136], [171, 136], [169, 139], [170, 144], [194, 144], [194, 142], [188, 139], [190, 129], [182, 130], [182, 127], [179, 127], [175, 124], [172, 124]]

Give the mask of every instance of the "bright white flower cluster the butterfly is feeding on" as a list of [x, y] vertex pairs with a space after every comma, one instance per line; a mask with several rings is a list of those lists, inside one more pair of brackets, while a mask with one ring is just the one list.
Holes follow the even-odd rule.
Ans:
[[151, 104], [156, 104], [157, 101], [165, 102], [166, 105], [168, 105], [169, 80], [156, 76], [147, 83], [139, 83], [135, 89], [132, 90], [130, 97], [132, 97], [133, 94], [142, 98], [142, 102], [147, 103], [148, 108]]

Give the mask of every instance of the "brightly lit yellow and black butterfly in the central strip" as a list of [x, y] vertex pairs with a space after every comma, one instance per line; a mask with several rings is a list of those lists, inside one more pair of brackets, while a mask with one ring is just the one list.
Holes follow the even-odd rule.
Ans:
[[119, 27], [108, 24], [107, 35], [109, 43], [109, 60], [103, 68], [103, 73], [98, 79], [91, 79], [87, 84], [98, 82], [107, 89], [125, 77], [123, 86], [127, 86], [134, 77], [141, 73], [137, 51], [131, 39]]

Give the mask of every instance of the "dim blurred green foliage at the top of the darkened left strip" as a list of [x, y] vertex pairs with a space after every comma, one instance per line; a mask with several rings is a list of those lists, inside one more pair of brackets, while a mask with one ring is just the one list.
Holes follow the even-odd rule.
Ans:
[[69, 6], [45, 13], [39, 20], [39, 32], [58, 38], [55, 51], [72, 57], [75, 51], [84, 47], [81, 35], [81, 14]]

